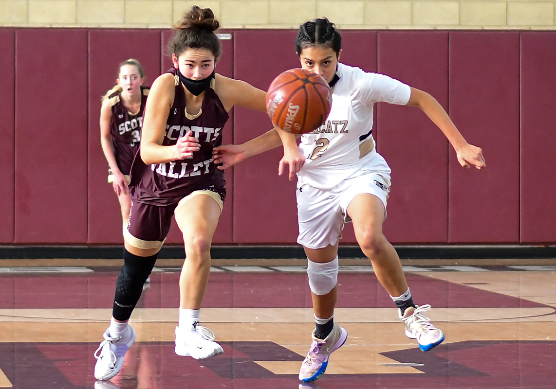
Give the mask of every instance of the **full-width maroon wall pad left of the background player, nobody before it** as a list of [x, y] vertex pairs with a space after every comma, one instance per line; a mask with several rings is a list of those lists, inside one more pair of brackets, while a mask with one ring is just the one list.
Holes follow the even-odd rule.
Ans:
[[87, 31], [16, 31], [15, 243], [87, 241]]

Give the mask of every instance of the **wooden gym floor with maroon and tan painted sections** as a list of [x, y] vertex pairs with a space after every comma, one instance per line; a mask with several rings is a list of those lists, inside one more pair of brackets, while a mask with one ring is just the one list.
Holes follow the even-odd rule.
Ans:
[[555, 386], [554, 260], [404, 261], [416, 304], [433, 306], [426, 315], [446, 335], [429, 352], [405, 337], [372, 267], [344, 261], [335, 320], [348, 339], [325, 375], [305, 386], [297, 373], [314, 324], [302, 262], [213, 263], [201, 325], [215, 332], [224, 354], [197, 361], [173, 352], [179, 261], [160, 261], [133, 312], [137, 341], [122, 371], [95, 382], [93, 353], [110, 320], [119, 267], [108, 260], [0, 261], [0, 388]]

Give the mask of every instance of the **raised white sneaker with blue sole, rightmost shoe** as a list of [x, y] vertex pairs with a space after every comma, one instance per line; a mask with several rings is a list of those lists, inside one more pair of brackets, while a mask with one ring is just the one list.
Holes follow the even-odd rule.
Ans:
[[398, 315], [405, 324], [405, 335], [410, 339], [416, 339], [423, 351], [429, 351], [444, 340], [444, 332], [430, 324], [430, 319], [423, 315], [423, 312], [429, 309], [429, 304], [410, 307], [405, 310], [404, 316], [401, 316], [401, 310], [398, 310]]

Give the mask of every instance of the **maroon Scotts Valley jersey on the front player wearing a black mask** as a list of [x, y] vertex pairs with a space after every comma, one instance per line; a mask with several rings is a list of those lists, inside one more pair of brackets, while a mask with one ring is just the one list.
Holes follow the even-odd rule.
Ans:
[[195, 190], [214, 190], [224, 199], [224, 171], [217, 169], [212, 161], [212, 149], [222, 144], [222, 128], [228, 113], [213, 83], [205, 90], [200, 112], [195, 116], [187, 114], [185, 90], [177, 70], [172, 68], [167, 73], [174, 76], [176, 88], [162, 145], [175, 145], [178, 138], [191, 130], [201, 147], [192, 158], [148, 166], [137, 154], [131, 168], [131, 197], [140, 203], [169, 205]]

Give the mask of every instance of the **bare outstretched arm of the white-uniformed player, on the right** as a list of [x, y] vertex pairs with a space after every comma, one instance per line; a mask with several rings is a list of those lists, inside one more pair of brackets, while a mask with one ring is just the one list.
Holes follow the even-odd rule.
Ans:
[[486, 167], [483, 150], [466, 142], [434, 97], [423, 90], [411, 88], [411, 97], [407, 105], [419, 107], [442, 130], [456, 151], [461, 166], [470, 168], [473, 165], [477, 169]]

